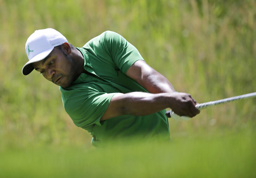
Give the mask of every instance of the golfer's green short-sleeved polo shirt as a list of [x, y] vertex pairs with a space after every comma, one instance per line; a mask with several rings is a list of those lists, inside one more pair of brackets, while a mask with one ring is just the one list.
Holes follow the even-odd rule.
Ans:
[[84, 57], [84, 69], [91, 75], [82, 73], [70, 87], [60, 90], [67, 114], [75, 125], [91, 133], [93, 146], [131, 137], [170, 138], [166, 110], [100, 121], [116, 93], [148, 92], [125, 75], [135, 61], [143, 60], [133, 45], [121, 35], [106, 31], [77, 49]]

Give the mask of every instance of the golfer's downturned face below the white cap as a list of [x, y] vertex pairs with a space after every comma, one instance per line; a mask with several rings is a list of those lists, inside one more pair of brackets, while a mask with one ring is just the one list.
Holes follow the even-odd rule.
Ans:
[[63, 88], [69, 87], [75, 80], [74, 60], [56, 47], [45, 59], [34, 62], [33, 67], [47, 80]]

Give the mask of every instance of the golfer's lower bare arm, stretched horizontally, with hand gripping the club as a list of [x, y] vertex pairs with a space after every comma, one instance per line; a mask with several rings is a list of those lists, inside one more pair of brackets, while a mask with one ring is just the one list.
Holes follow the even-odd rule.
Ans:
[[194, 99], [187, 93], [117, 93], [115, 94], [101, 120], [120, 115], [149, 115], [170, 107], [178, 115], [194, 117], [199, 114]]

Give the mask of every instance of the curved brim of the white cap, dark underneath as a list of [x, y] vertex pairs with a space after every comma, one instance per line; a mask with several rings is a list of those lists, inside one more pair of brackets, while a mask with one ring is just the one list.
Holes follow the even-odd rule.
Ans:
[[44, 58], [46, 58], [51, 53], [53, 48], [54, 47], [51, 47], [50, 49], [47, 49], [47, 50], [35, 55], [35, 57], [33, 57], [29, 62], [27, 62], [22, 67], [22, 70], [21, 70], [23, 75], [28, 75], [30, 72], [32, 72], [34, 70], [34, 67], [33, 67], [32, 63], [38, 62], [38, 61], [43, 60]]

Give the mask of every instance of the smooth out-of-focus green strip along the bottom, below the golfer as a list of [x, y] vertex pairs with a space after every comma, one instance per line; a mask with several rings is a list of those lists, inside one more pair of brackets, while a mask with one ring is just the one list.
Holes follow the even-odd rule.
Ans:
[[[255, 133], [104, 149], [7, 150], [1, 177], [255, 177]], [[4, 161], [3, 161], [4, 160]]]

